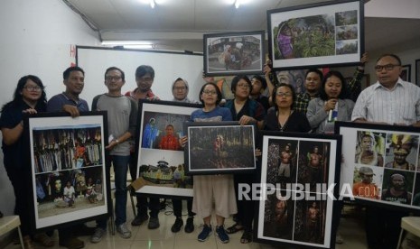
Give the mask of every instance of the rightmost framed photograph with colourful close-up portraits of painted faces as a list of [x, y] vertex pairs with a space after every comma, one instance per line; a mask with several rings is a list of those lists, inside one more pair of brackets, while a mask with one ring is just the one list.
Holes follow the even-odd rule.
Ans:
[[345, 197], [366, 205], [420, 209], [419, 128], [338, 122], [337, 133], [346, 152], [341, 189], [351, 189]]

